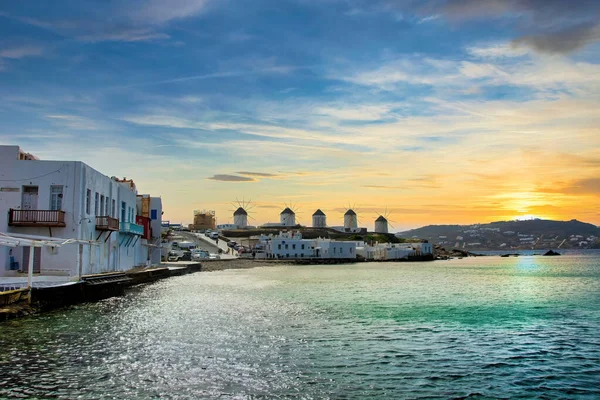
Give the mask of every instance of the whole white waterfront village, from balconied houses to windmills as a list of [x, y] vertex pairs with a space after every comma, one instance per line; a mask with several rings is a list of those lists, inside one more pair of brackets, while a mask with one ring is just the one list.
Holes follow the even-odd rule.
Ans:
[[[11, 282], [14, 287], [31, 286], [32, 279], [40, 276], [45, 281], [65, 281], [221, 255], [265, 260], [433, 258], [429, 243], [388, 243], [385, 239], [394, 236], [388, 234], [383, 216], [375, 221], [375, 233], [383, 235], [382, 240], [353, 239], [352, 235], [366, 234], [367, 229], [358, 226], [358, 216], [350, 209], [339, 227], [327, 227], [326, 215], [316, 210], [312, 236], [318, 233], [317, 237], [299, 230], [290, 207], [280, 213], [278, 223], [258, 228], [248, 225], [243, 207], [233, 213], [233, 224], [219, 226], [214, 211], [197, 211], [194, 224], [185, 227], [195, 232], [196, 243], [182, 246], [173, 232], [183, 227], [163, 221], [161, 198], [138, 193], [133, 179], [108, 177], [80, 161], [41, 160], [18, 146], [0, 146], [0, 178], [4, 286]], [[244, 244], [236, 243], [240, 232]], [[205, 240], [213, 246], [213, 254], [198, 249], [197, 244]]]

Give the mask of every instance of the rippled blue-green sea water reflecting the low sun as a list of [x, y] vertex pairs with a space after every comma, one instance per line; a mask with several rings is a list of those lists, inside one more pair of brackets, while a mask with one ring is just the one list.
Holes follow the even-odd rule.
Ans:
[[600, 398], [600, 256], [201, 273], [0, 325], [0, 398]]

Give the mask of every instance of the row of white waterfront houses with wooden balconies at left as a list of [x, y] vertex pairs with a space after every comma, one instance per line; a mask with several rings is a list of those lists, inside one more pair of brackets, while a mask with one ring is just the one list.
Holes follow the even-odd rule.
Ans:
[[160, 263], [162, 202], [138, 195], [133, 180], [108, 177], [80, 161], [40, 160], [0, 146], [0, 276], [33, 272], [81, 276]]

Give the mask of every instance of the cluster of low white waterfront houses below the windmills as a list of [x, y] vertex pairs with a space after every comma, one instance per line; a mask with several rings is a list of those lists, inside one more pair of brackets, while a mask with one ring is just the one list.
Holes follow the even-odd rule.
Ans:
[[274, 259], [356, 259], [402, 260], [417, 255], [432, 255], [431, 243], [375, 243], [363, 241], [336, 241], [331, 239], [304, 239], [300, 232], [279, 232], [261, 235], [256, 246], [259, 258]]

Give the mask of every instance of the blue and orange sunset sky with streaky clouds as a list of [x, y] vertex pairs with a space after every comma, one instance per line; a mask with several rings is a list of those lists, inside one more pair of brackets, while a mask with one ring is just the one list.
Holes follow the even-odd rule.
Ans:
[[0, 4], [0, 144], [189, 223], [600, 225], [596, 0]]

